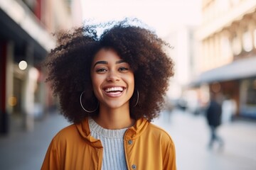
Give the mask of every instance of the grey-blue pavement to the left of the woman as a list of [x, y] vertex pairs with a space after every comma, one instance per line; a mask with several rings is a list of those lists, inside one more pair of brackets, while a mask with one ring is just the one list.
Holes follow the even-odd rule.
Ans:
[[68, 124], [63, 116], [53, 113], [45, 120], [36, 121], [33, 132], [20, 130], [7, 137], [0, 136], [0, 169], [41, 169], [50, 141]]

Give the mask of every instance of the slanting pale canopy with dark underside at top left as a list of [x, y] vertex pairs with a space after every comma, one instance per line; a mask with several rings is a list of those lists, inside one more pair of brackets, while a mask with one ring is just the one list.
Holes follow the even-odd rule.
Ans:
[[22, 1], [0, 0], [0, 25], [1, 40], [15, 42], [16, 57], [23, 55], [26, 45], [33, 45], [34, 62], [40, 62], [55, 46], [53, 37]]

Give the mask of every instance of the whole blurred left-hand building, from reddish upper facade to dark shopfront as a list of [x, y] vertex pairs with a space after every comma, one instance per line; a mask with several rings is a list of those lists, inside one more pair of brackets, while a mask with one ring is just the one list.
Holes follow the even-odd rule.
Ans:
[[55, 45], [52, 33], [82, 24], [79, 0], [0, 0], [0, 132], [35, 118], [54, 101], [41, 61]]

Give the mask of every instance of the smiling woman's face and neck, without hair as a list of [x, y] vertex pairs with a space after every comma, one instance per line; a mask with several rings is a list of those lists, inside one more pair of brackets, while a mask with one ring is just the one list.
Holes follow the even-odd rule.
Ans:
[[[100, 102], [100, 115], [95, 117], [96, 122], [107, 129], [132, 126], [134, 120], [129, 115], [129, 99], [134, 93], [134, 73], [129, 64], [112, 48], [104, 47], [95, 55], [92, 66], [92, 89]], [[119, 125], [112, 119], [118, 119]]]

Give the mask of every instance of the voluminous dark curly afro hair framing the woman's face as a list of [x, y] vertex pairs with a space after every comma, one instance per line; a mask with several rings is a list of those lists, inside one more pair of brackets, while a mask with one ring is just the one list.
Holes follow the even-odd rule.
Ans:
[[[105, 28], [100, 37], [97, 28]], [[82, 95], [85, 108], [92, 111], [97, 107], [90, 68], [93, 57], [103, 47], [115, 50], [134, 72], [135, 90], [129, 101], [131, 117], [151, 121], [159, 115], [169, 78], [174, 75], [174, 63], [164, 50], [169, 44], [153, 31], [131, 25], [125, 19], [82, 26], [57, 35], [57, 47], [51, 50], [44, 62], [48, 69], [46, 81], [50, 82], [53, 94], [59, 98], [61, 113], [70, 122], [80, 123], [87, 116], [98, 114], [98, 110], [93, 113], [82, 110], [80, 94], [85, 91]]]

